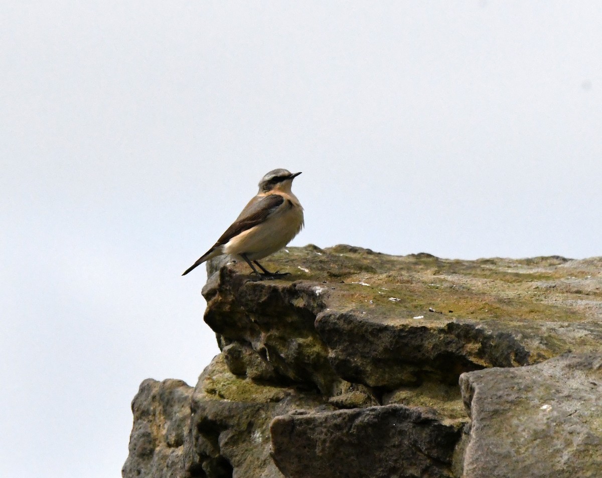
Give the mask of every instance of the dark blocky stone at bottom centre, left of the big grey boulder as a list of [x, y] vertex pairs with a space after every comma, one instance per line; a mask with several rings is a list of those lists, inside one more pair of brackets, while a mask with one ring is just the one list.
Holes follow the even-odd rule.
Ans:
[[270, 427], [287, 478], [452, 477], [458, 424], [403, 405], [291, 413]]

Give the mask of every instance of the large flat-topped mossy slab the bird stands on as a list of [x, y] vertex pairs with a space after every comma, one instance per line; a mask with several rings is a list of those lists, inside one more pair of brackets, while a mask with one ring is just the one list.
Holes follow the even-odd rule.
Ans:
[[[245, 265], [209, 265], [205, 321], [220, 343], [250, 352], [232, 372], [273, 370], [325, 394], [340, 379], [390, 391], [457, 384], [463, 372], [533, 364], [602, 342], [602, 278], [589, 263], [399, 257], [348, 246], [290, 248], [274, 260], [301, 272], [256, 282]], [[565, 283], [572, 285], [554, 287]]]

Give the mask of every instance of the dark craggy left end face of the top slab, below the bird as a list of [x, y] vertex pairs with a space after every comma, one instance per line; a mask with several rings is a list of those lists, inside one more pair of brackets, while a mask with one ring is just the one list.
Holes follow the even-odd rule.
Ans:
[[313, 384], [329, 393], [340, 379], [314, 327], [315, 314], [323, 308], [320, 296], [311, 290], [314, 284], [249, 281], [231, 267], [215, 275], [219, 281], [203, 288], [208, 301], [205, 322], [218, 334], [220, 345], [237, 342], [258, 355], [232, 371], [240, 373], [250, 363], [265, 361], [279, 380]]

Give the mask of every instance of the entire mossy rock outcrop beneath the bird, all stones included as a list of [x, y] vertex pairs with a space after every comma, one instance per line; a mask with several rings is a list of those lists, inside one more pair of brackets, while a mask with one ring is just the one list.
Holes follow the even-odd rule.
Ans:
[[602, 259], [270, 259], [291, 275], [209, 263], [222, 353], [194, 389], [143, 382], [125, 478], [597, 476]]

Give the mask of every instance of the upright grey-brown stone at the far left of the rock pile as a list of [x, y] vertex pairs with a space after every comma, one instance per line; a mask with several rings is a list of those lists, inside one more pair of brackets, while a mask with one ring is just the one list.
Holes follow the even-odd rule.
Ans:
[[134, 427], [123, 478], [185, 478], [184, 438], [193, 388], [181, 380], [146, 379], [132, 401]]

